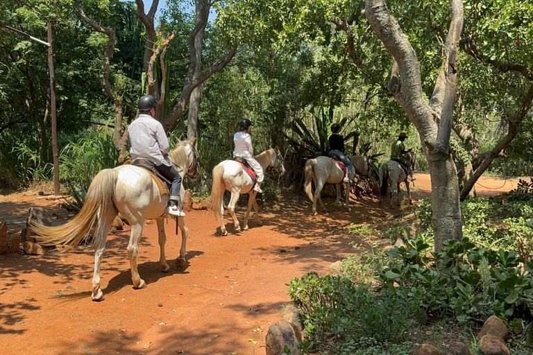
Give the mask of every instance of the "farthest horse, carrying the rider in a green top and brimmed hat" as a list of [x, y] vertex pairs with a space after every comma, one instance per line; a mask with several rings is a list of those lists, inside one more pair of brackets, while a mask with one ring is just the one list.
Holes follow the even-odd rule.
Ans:
[[[411, 166], [414, 168], [414, 161], [415, 161], [415, 153], [414, 152], [408, 152], [403, 155], [405, 159], [409, 163], [411, 163]], [[400, 166], [400, 163], [389, 160], [388, 162], [384, 162], [380, 166], [379, 170], [379, 176], [380, 176], [380, 203], [385, 202], [387, 200], [387, 191], [389, 191], [389, 186], [391, 187], [391, 191], [389, 192], [389, 201], [391, 203], [390, 208], [394, 208], [392, 205], [392, 192], [393, 190], [396, 190], [396, 196], [397, 196], [397, 202], [396, 205], [400, 206], [400, 183], [405, 182], [405, 189], [407, 189], [407, 198], [409, 198], [409, 205], [413, 204], [413, 200], [411, 199], [411, 191], [409, 190], [409, 180], [407, 179], [407, 174], [405, 173], [405, 170]]]

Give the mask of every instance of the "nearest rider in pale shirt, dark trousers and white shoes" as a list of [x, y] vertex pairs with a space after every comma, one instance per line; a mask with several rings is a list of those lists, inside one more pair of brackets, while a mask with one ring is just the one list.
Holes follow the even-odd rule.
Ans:
[[139, 117], [128, 127], [131, 159], [147, 159], [158, 172], [172, 182], [167, 214], [183, 217], [180, 209], [181, 176], [169, 160], [169, 139], [160, 121], [154, 118], [158, 100], [151, 95], [139, 98]]

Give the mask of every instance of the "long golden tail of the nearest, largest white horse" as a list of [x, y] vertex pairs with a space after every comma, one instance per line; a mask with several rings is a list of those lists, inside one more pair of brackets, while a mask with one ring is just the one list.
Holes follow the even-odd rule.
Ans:
[[103, 238], [101, 225], [110, 208], [116, 208], [113, 202], [117, 171], [104, 169], [100, 171], [91, 182], [85, 203], [73, 220], [64, 225], [49, 227], [31, 220], [31, 227], [37, 234], [37, 240], [42, 245], [61, 245], [64, 250], [71, 250], [80, 244], [83, 238], [96, 225], [97, 236], [94, 244], [97, 245]]

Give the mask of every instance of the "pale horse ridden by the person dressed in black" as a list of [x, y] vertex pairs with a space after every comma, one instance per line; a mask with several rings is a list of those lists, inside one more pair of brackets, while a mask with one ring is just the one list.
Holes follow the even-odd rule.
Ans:
[[[369, 159], [363, 156], [352, 156], [350, 160], [353, 163], [353, 171], [348, 176], [348, 182], [346, 185], [346, 193], [344, 200], [346, 201], [346, 209], [351, 211], [350, 205], [348, 204], [350, 200], [350, 188], [353, 178], [355, 178], [355, 171], [366, 175], [369, 173]], [[322, 211], [325, 211], [324, 204], [320, 198], [320, 193], [326, 182], [335, 184], [335, 189], [337, 189], [337, 200], [335, 200], [335, 206], [339, 204], [341, 200], [341, 183], [344, 179], [344, 172], [339, 168], [339, 164], [333, 161], [330, 157], [316, 157], [314, 159], [309, 159], [305, 162], [305, 193], [313, 202], [312, 214], [314, 216], [316, 213], [316, 200], [320, 202]], [[312, 193], [311, 181], [314, 182], [314, 194]]]

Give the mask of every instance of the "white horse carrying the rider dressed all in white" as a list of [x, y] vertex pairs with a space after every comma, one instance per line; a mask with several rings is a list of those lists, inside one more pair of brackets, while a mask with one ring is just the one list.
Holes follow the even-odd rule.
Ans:
[[[281, 175], [285, 174], [285, 167], [283, 166], [280, 150], [276, 148], [270, 148], [265, 150], [259, 155], [255, 155], [255, 160], [262, 166], [263, 171], [272, 166]], [[248, 193], [248, 208], [246, 209], [246, 215], [244, 216], [243, 230], [248, 230], [248, 215], [253, 205], [255, 211], [255, 222], [260, 225], [261, 220], [257, 213], [257, 202], [255, 196], [257, 191], [253, 190], [253, 181], [250, 175], [244, 171], [242, 165], [235, 160], [224, 160], [213, 168], [213, 187], [211, 189], [211, 209], [214, 212], [214, 217], [220, 220], [220, 230], [223, 236], [228, 234], [226, 225], [224, 225], [224, 207], [223, 197], [226, 190], [231, 192], [230, 203], [228, 204], [228, 210], [233, 218], [233, 225], [235, 225], [235, 233], [241, 232], [239, 220], [235, 214], [235, 205], [239, 200], [241, 193]]]

